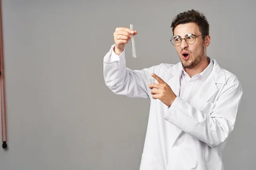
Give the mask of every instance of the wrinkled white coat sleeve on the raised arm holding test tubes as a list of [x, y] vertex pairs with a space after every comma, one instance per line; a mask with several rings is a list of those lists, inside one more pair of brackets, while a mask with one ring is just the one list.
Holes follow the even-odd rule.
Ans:
[[107, 87], [114, 94], [128, 97], [141, 97], [149, 99], [150, 91], [148, 85], [151, 83], [151, 73], [155, 73], [156, 66], [142, 70], [131, 70], [126, 68], [125, 49], [120, 55], [113, 51], [115, 45], [104, 57], [103, 74]]

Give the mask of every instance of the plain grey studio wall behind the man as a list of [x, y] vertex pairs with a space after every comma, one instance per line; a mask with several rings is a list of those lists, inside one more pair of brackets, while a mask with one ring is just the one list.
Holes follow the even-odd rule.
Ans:
[[254, 0], [2, 0], [9, 150], [0, 170], [137, 170], [149, 100], [113, 94], [103, 57], [116, 27], [134, 24], [131, 69], [177, 63], [169, 41], [172, 18], [203, 12], [210, 24], [208, 56], [244, 89], [237, 122], [223, 152], [225, 170], [255, 164]]

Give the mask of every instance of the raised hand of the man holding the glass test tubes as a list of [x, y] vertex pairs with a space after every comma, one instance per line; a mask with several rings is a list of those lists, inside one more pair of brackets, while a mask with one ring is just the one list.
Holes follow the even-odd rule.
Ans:
[[114, 32], [114, 40], [115, 40], [115, 49], [114, 52], [117, 55], [120, 55], [122, 51], [125, 49], [125, 44], [127, 44], [131, 40], [131, 36], [136, 35], [137, 31], [131, 30], [129, 28], [116, 28]]

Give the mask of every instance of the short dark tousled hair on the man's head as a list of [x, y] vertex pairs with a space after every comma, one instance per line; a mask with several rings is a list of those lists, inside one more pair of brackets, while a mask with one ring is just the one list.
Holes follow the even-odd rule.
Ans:
[[[204, 14], [200, 13], [199, 11], [195, 11], [194, 9], [189, 11], [184, 11], [180, 14], [177, 14], [176, 17], [172, 20], [172, 34], [174, 34], [174, 29], [176, 26], [180, 24], [186, 24], [186, 23], [196, 23], [199, 27], [199, 31], [201, 34], [209, 35], [209, 23], [204, 16]], [[204, 40], [205, 34], [202, 35], [202, 38]]]

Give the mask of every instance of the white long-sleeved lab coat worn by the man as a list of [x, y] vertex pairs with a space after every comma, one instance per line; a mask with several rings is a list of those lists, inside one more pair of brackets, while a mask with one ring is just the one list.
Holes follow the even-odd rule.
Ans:
[[212, 59], [212, 72], [191, 101], [177, 96], [177, 105], [168, 108], [152, 98], [151, 73], [178, 95], [181, 63], [133, 71], [126, 68], [125, 51], [109, 62], [113, 46], [104, 57], [105, 84], [115, 94], [151, 100], [140, 170], [224, 170], [221, 151], [234, 128], [243, 93], [237, 77]]

